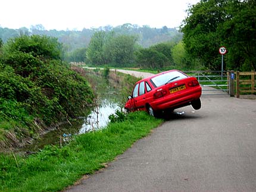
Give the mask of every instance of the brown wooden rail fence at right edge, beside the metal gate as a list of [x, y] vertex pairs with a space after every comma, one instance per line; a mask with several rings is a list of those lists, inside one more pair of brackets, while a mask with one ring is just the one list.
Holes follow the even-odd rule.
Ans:
[[256, 72], [236, 72], [236, 97], [241, 93], [256, 93], [255, 83]]

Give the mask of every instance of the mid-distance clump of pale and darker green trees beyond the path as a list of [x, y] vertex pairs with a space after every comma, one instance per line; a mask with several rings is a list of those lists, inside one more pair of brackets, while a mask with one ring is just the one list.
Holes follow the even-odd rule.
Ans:
[[138, 37], [115, 32], [96, 32], [83, 55], [93, 65], [163, 69], [173, 65], [171, 51], [177, 43], [164, 42], [142, 48]]

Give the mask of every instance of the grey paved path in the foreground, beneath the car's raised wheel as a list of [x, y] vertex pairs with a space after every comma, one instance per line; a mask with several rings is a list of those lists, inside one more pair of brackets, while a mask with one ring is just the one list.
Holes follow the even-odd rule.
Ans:
[[256, 100], [201, 100], [67, 191], [256, 191]]

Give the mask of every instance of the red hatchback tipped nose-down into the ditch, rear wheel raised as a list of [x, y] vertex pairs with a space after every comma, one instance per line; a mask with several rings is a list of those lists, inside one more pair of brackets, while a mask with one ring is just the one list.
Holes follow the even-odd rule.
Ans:
[[154, 117], [183, 106], [201, 108], [202, 88], [195, 77], [170, 70], [138, 81], [124, 108], [128, 112], [148, 111]]

